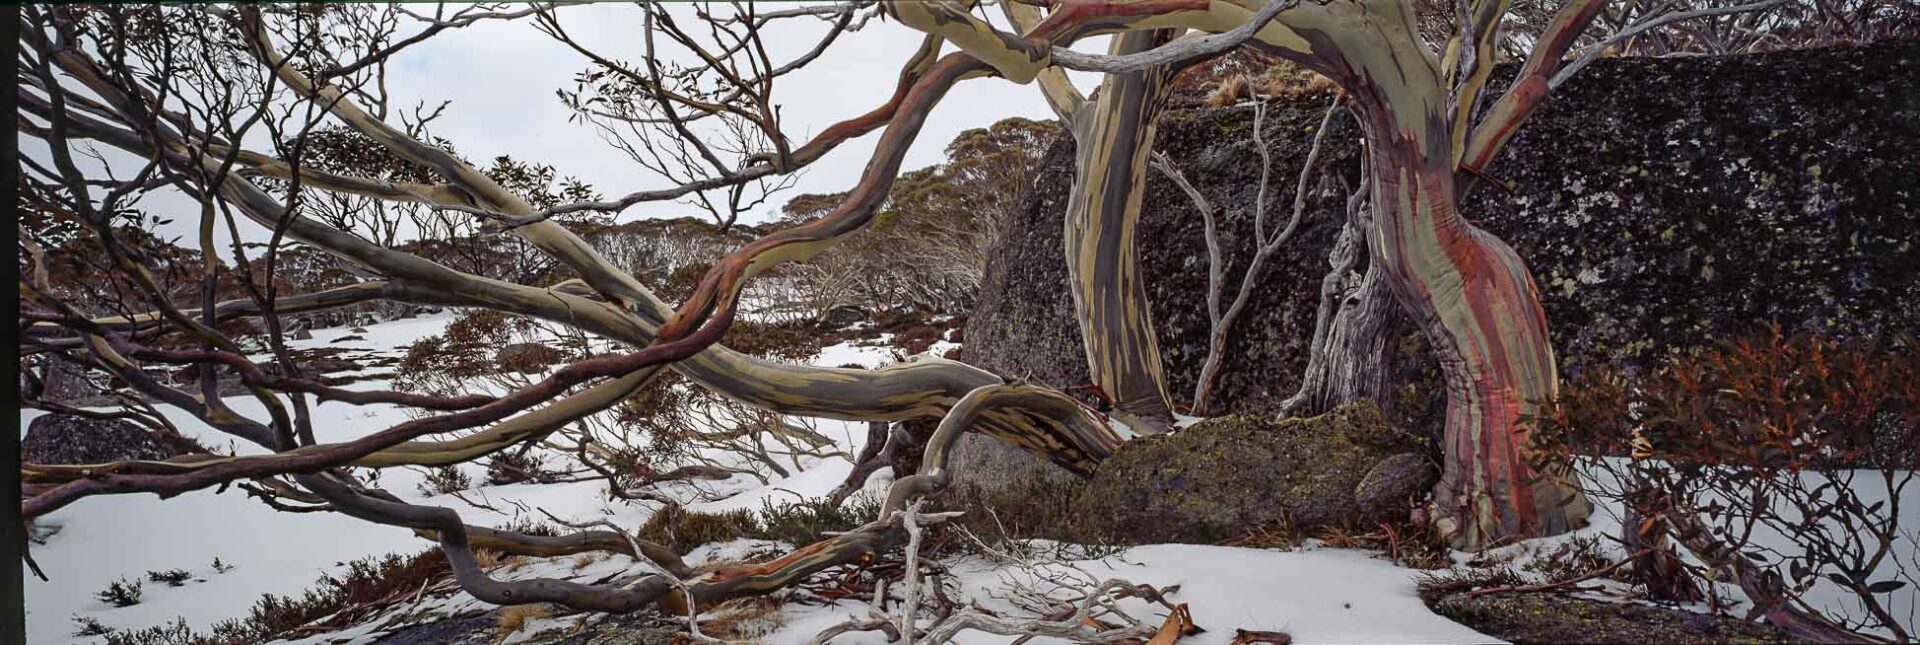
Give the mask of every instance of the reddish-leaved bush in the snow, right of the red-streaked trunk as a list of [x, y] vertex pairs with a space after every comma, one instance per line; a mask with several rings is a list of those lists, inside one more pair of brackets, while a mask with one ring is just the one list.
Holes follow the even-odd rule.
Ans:
[[1753, 572], [1740, 578], [1757, 603], [1830, 585], [1851, 607], [1826, 620], [1905, 639], [1912, 618], [1887, 593], [1920, 572], [1895, 547], [1914, 530], [1899, 501], [1920, 466], [1916, 349], [1774, 328], [1642, 378], [1584, 374], [1528, 424], [1542, 466], [1572, 459], [1590, 495]]

